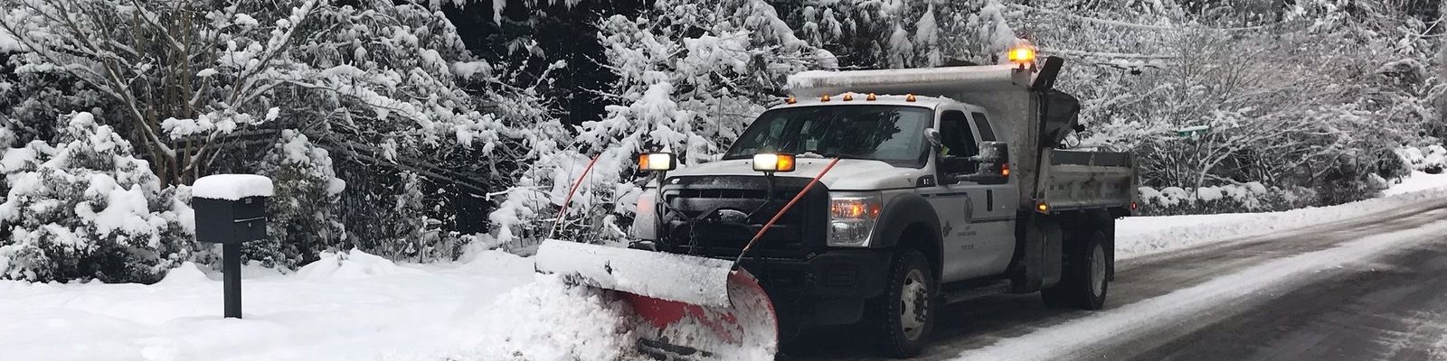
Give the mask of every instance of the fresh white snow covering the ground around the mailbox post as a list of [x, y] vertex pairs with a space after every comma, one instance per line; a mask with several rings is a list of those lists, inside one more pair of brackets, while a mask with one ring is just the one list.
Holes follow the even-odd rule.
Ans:
[[245, 319], [220, 316], [220, 274], [190, 263], [149, 286], [0, 282], [0, 360], [592, 360], [629, 339], [616, 300], [495, 251], [243, 276]]

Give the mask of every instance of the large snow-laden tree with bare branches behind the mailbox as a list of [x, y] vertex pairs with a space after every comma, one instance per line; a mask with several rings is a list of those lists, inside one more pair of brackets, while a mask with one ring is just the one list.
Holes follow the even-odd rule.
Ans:
[[[284, 188], [297, 192], [287, 191], [276, 204], [298, 205], [278, 209], [282, 218], [298, 222], [287, 222], [289, 230], [273, 227], [282, 232], [275, 244], [249, 245], [300, 247], [287, 257], [272, 254], [279, 257], [275, 263], [294, 266], [346, 240], [341, 230], [394, 240], [372, 237], [373, 228], [359, 225], [388, 230], [392, 219], [427, 217], [398, 215], [391, 201], [386, 212], [376, 214], [336, 206], [372, 206], [402, 193], [394, 182], [402, 172], [441, 180], [454, 191], [451, 196], [457, 189], [483, 195], [511, 183], [512, 165], [506, 162], [515, 157], [502, 153], [527, 150], [514, 143], [508, 127], [525, 127], [530, 120], [505, 123], [514, 120], [501, 118], [504, 111], [485, 114], [492, 110], [491, 100], [475, 97], [469, 85], [511, 79], [480, 71], [488, 66], [475, 62], [438, 4], [0, 0], [6, 9], [0, 32], [27, 45], [10, 56], [14, 72], [27, 82], [0, 77], [17, 84], [0, 84], [0, 113], [54, 117], [90, 107], [113, 110], [114, 116], [103, 120], [124, 130], [119, 134], [137, 149], [137, 157], [149, 160], [162, 186], [216, 172], [268, 173], [294, 182]], [[6, 92], [9, 88], [88, 97], [49, 97], [56, 101], [45, 103], [39, 95]], [[32, 103], [36, 105], [26, 105]], [[6, 111], [13, 108], [26, 111]], [[4, 117], [12, 116], [0, 116], [0, 121]], [[292, 165], [294, 172], [276, 159], [258, 162], [273, 144], [294, 140], [281, 139], [287, 129], [305, 134], [310, 147], [326, 150], [328, 162], [336, 160], [327, 166], [333, 169]], [[27, 130], [25, 137], [54, 139], [43, 130]], [[350, 192], [327, 193], [327, 185], [336, 183], [327, 172], [357, 175], [357, 182], [347, 182]], [[308, 241], [298, 243], [302, 238]]]

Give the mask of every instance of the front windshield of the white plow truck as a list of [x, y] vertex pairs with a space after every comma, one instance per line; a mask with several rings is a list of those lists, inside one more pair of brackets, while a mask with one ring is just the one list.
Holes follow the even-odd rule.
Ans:
[[919, 166], [932, 111], [901, 105], [828, 105], [770, 110], [744, 130], [724, 159], [757, 153], [810, 153]]

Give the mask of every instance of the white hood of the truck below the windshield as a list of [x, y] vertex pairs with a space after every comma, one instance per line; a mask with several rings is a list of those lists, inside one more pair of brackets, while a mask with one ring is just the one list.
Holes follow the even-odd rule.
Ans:
[[[818, 157], [800, 157], [796, 162], [794, 172], [776, 175], [813, 178], [829, 165], [829, 159]], [[912, 188], [916, 179], [923, 175], [928, 175], [925, 169], [896, 168], [880, 160], [841, 159], [839, 165], [835, 165], [820, 182], [831, 191], [877, 191]], [[750, 159], [732, 159], [669, 172], [669, 178], [673, 176], [764, 176], [764, 172], [754, 170]]]

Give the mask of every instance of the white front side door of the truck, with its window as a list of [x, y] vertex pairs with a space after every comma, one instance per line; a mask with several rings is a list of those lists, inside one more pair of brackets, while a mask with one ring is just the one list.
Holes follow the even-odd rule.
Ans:
[[[983, 118], [983, 116], [981, 116]], [[968, 157], [980, 153], [981, 140], [994, 140], [987, 120], [978, 127], [962, 110], [945, 110], [939, 117], [941, 155]], [[974, 165], [964, 169], [943, 169], [943, 162], [935, 162], [936, 172], [972, 173]], [[943, 274], [941, 280], [955, 282], [1004, 273], [1014, 256], [1014, 193], [1011, 185], [980, 185], [958, 182], [922, 189], [939, 215], [943, 237]], [[1009, 198], [1009, 199], [1007, 199]]]

